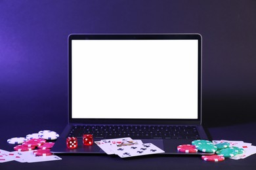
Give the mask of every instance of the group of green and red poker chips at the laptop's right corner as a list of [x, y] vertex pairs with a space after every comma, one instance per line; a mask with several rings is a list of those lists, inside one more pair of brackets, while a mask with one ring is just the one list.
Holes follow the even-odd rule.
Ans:
[[244, 153], [243, 148], [229, 147], [230, 143], [213, 144], [211, 141], [196, 140], [192, 144], [182, 144], [177, 146], [179, 152], [195, 153], [201, 151], [205, 153], [213, 153], [212, 155], [202, 156], [205, 161], [223, 161], [225, 158], [232, 158], [237, 154]]

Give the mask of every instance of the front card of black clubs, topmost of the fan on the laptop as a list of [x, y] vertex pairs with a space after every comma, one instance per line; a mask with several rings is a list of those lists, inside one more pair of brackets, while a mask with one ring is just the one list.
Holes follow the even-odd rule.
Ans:
[[133, 156], [143, 156], [149, 154], [159, 154], [164, 151], [152, 143], [137, 144], [132, 146], [120, 146], [115, 150], [116, 154], [121, 158], [128, 158]]

